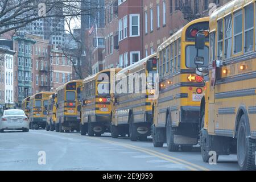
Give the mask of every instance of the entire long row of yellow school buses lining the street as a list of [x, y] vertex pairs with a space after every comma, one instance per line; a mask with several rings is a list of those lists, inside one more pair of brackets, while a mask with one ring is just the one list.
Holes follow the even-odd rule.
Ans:
[[242, 170], [255, 169], [255, 20], [253, 0], [231, 1], [130, 67], [26, 98], [31, 127], [133, 141], [152, 135], [154, 147], [167, 143], [169, 151], [191, 151], [200, 141], [204, 162], [210, 151], [237, 153]]

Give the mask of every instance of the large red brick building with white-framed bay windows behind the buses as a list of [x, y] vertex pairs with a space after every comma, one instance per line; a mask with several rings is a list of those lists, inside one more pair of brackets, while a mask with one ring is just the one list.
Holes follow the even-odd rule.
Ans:
[[229, 1], [105, 0], [104, 68], [124, 68], [151, 55], [185, 24]]

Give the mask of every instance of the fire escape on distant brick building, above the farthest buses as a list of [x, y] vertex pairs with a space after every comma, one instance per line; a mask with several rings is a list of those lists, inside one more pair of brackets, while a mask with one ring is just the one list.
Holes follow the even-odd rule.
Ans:
[[[41, 92], [50, 91], [52, 82], [50, 81], [52, 66], [49, 61], [49, 56], [46, 54], [39, 56], [39, 88]], [[42, 80], [43, 78], [43, 80]]]

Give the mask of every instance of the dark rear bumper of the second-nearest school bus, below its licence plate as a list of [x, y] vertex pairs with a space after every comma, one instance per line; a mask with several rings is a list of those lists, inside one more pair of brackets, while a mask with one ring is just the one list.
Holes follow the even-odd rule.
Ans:
[[200, 117], [200, 106], [181, 106], [181, 123], [198, 123]]

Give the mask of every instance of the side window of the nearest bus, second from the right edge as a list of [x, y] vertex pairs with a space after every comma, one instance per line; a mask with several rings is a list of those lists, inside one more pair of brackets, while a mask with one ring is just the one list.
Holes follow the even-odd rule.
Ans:
[[[234, 14], [234, 47], [233, 53], [242, 52], [243, 15], [242, 10]], [[212, 60], [212, 59], [211, 59]]]

